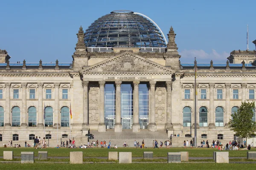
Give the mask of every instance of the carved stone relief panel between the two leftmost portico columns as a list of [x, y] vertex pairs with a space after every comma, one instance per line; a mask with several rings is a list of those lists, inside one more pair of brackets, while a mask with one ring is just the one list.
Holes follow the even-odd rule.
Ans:
[[89, 84], [89, 123], [99, 122], [99, 85], [97, 82]]

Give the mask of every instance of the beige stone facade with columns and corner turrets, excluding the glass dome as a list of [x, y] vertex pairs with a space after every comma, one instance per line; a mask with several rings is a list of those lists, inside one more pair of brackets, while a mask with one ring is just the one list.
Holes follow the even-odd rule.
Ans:
[[[31, 134], [44, 136], [44, 109], [47, 107], [52, 108], [52, 111], [46, 111], [47, 121], [52, 121], [47, 122], [45, 130], [52, 138], [57, 136], [57, 127], [59, 136], [69, 135], [69, 126], [72, 136], [76, 137], [84, 136], [88, 130], [104, 133], [107, 128], [105, 85], [108, 83], [115, 87], [113, 128], [118, 133], [122, 132], [121, 112], [124, 109], [121, 104], [122, 84], [128, 83], [132, 87], [133, 122], [129, 128], [135, 133], [140, 133], [142, 127], [138, 103], [141, 100], [139, 85], [143, 83], [148, 87], [145, 117], [148, 122], [143, 128], [153, 132], [166, 130], [168, 137], [178, 133], [180, 136], [194, 136], [196, 113], [197, 136], [233, 140], [234, 132], [229, 128], [232, 108], [239, 107], [243, 101], [255, 101], [256, 71], [254, 67], [250, 69], [252, 67], [244, 64], [233, 67], [227, 62], [227, 66], [221, 68], [211, 62], [205, 67], [198, 66], [195, 86], [194, 65], [180, 64], [173, 28], [169, 31], [169, 43], [164, 53], [140, 52], [138, 48], [87, 52], [81, 38], [84, 37], [82, 28], [77, 36], [78, 43], [70, 65], [61, 65], [56, 61], [55, 65], [47, 66], [40, 61], [39, 66], [32, 67], [24, 62], [14, 67], [9, 66], [9, 58], [3, 59], [8, 60], [6, 66], [0, 69], [0, 107], [3, 108], [0, 137], [3, 143], [14, 140], [15, 135], [18, 140], [24, 141]], [[29, 116], [33, 115], [29, 110], [31, 107], [36, 109], [33, 121], [33, 116]], [[64, 107], [68, 110], [65, 113]], [[187, 113], [187, 116], [190, 114], [190, 121], [184, 116], [186, 107], [190, 109]], [[201, 107], [206, 109], [204, 121], [201, 121]], [[217, 107], [223, 109], [222, 121], [219, 122], [216, 118]], [[71, 108], [72, 119], [69, 119], [67, 115], [70, 115]]]

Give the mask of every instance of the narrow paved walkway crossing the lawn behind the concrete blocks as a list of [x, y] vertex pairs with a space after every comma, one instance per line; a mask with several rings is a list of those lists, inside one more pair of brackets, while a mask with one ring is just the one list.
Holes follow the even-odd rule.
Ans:
[[[3, 158], [3, 156], [0, 156]], [[14, 156], [15, 159], [20, 159], [20, 156]], [[84, 157], [84, 159], [97, 158], [97, 159], [108, 159], [108, 157]], [[38, 159], [38, 156], [35, 156]], [[69, 156], [48, 156], [48, 159], [70, 159]], [[132, 159], [143, 159], [143, 157], [132, 157]], [[167, 159], [166, 157], [154, 157], [154, 159]], [[189, 157], [191, 160], [201, 160], [201, 159], [213, 159], [213, 157]], [[229, 159], [247, 159], [247, 157], [229, 157]]]

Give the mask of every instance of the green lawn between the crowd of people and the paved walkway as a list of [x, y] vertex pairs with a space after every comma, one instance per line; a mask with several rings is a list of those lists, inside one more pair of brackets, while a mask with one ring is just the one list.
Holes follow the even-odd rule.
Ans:
[[[35, 152], [35, 156], [38, 156], [38, 151], [48, 151], [48, 156], [70, 156], [70, 152], [73, 151], [83, 151], [83, 156], [85, 157], [107, 157], [108, 152], [118, 151], [118, 152], [132, 152], [133, 157], [143, 157], [144, 151], [153, 151], [154, 157], [167, 157], [168, 152], [180, 152], [188, 151], [189, 156], [192, 157], [212, 157], [212, 153], [218, 151], [211, 148], [192, 148], [184, 149], [181, 147], [176, 148], [160, 148], [160, 149], [136, 149], [136, 148], [118, 148], [118, 149], [107, 149], [107, 148], [89, 148], [89, 149], [68, 149], [68, 148], [47, 148], [47, 149], [34, 149], [34, 148], [0, 148], [0, 156], [3, 156], [3, 151], [13, 151], [14, 156], [20, 156], [20, 152]], [[256, 151], [256, 148], [253, 148], [251, 151]], [[223, 151], [221, 151], [223, 152]], [[230, 157], [246, 157], [247, 150], [230, 150]]]

